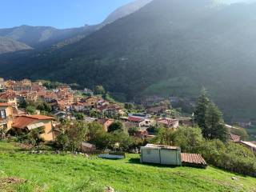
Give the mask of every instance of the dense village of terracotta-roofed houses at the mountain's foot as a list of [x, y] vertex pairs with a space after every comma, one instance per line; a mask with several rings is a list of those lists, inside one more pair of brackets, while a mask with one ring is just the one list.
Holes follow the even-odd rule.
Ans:
[[[42, 86], [42, 82], [31, 82], [29, 79], [23, 79], [20, 82], [4, 81], [0, 78], [0, 90], [1, 106], [2, 108], [6, 107], [6, 110], [1, 110], [2, 127], [10, 130], [15, 128], [15, 125], [21, 127], [18, 122], [22, 122], [23, 119], [26, 121], [28, 117], [43, 118], [44, 116], [46, 118], [48, 116], [53, 121], [53, 131], [45, 136], [46, 141], [54, 139], [54, 127], [58, 126], [58, 122], [63, 119], [99, 122], [106, 131], [115, 120], [118, 120], [122, 122], [126, 130], [137, 127], [138, 130], [135, 135], [140, 138], [154, 137], [147, 130], [151, 126], [161, 125], [166, 128], [177, 129], [179, 123], [181, 123], [180, 121], [182, 121], [182, 125], [192, 125], [190, 118], [180, 118], [180, 120], [166, 118], [168, 112], [170, 114], [170, 110], [168, 110], [170, 109], [170, 103], [150, 106], [145, 112], [135, 114], [126, 110], [132, 104], [127, 104], [128, 107], [125, 107], [126, 105], [122, 103], [109, 102], [102, 96], [94, 96], [93, 91], [89, 89], [83, 90], [83, 95], [77, 94], [78, 90], [72, 90], [67, 85], [48, 90], [45, 86]], [[38, 101], [49, 106], [50, 110], [47, 111], [47, 115], [45, 115], [46, 110], [40, 110], [40, 107], [32, 111], [30, 106], [22, 107], [24, 102], [33, 103]], [[155, 114], [160, 114], [160, 116]], [[26, 125], [22, 126], [22, 128], [26, 127]]]

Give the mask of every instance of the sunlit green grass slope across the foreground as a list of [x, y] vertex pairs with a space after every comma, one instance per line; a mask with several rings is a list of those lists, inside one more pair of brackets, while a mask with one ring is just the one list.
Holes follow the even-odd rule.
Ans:
[[[26, 154], [0, 142], [0, 191], [256, 191], [256, 178], [208, 167], [142, 165], [72, 154]], [[237, 179], [232, 180], [232, 177]]]

